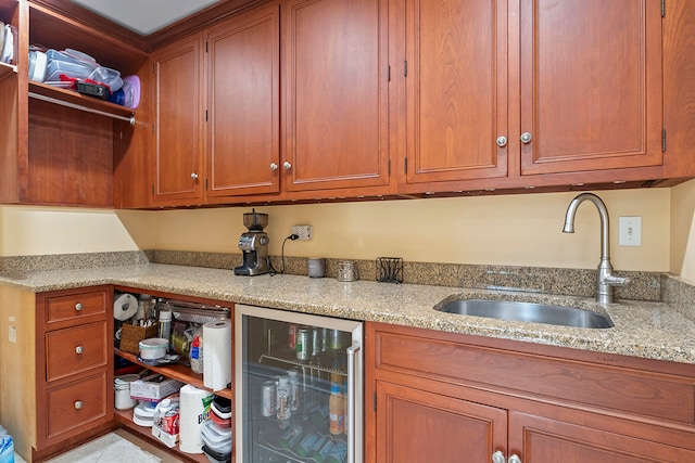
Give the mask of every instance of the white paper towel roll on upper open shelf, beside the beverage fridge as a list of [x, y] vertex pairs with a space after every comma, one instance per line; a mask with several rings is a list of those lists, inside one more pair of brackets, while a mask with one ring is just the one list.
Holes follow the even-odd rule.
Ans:
[[203, 383], [219, 390], [231, 382], [231, 322], [203, 325]]

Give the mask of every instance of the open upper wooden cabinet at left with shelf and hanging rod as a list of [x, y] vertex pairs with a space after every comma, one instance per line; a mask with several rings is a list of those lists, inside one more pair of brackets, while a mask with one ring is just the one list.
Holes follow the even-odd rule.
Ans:
[[141, 130], [129, 124], [140, 113], [30, 81], [29, 44], [76, 49], [147, 82], [142, 40], [45, 1], [0, 0], [0, 21], [17, 31], [14, 65], [0, 65], [0, 202], [112, 207], [114, 159], [144, 156]]

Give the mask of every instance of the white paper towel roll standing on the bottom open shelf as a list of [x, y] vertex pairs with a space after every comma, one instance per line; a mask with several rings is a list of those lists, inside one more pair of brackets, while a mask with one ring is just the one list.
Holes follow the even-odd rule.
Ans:
[[[212, 394], [190, 384], [179, 390], [179, 449], [186, 453], [203, 453], [200, 428], [210, 413]], [[208, 400], [205, 400], [210, 397]]]

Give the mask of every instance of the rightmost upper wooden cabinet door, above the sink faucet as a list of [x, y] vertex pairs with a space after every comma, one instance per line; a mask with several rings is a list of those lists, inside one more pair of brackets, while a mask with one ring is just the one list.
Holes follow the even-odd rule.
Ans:
[[660, 165], [660, 2], [520, 5], [521, 173]]

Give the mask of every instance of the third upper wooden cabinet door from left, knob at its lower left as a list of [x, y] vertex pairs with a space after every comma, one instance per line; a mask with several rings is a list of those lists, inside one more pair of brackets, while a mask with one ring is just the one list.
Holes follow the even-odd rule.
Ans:
[[387, 3], [283, 3], [288, 191], [389, 184]]

